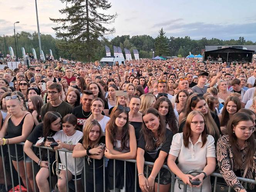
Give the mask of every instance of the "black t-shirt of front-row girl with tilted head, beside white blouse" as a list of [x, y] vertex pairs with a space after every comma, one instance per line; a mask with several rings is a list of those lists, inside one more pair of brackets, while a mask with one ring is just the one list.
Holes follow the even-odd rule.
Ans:
[[[163, 151], [165, 153], [169, 153], [170, 152], [170, 146], [172, 144], [172, 137], [173, 137], [173, 133], [172, 131], [166, 129], [166, 141], [165, 143], [162, 143], [160, 146], [156, 147], [154, 150], [145, 150], [145, 140], [144, 140], [144, 136], [141, 135], [140, 139], [138, 140], [138, 144], [137, 147], [145, 150], [144, 153], [144, 158], [145, 161], [148, 162], [155, 162], [155, 160], [158, 158], [160, 151]], [[168, 155], [167, 155], [168, 157]], [[167, 157], [165, 158], [165, 162], [167, 162]]]

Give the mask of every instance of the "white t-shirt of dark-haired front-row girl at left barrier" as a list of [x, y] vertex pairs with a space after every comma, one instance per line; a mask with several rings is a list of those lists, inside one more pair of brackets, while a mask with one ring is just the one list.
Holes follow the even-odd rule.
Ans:
[[[67, 136], [63, 130], [58, 131], [52, 136], [54, 140], [61, 140], [62, 143], [69, 145], [76, 145], [79, 140], [83, 137], [83, 132], [76, 130], [76, 133], [72, 136]], [[80, 175], [84, 166], [83, 158], [76, 158], [76, 169], [75, 169], [75, 158], [72, 157], [72, 153], [67, 152], [67, 169], [72, 173], [72, 175]], [[59, 157], [61, 158], [61, 163], [66, 165], [65, 152], [59, 151]]]

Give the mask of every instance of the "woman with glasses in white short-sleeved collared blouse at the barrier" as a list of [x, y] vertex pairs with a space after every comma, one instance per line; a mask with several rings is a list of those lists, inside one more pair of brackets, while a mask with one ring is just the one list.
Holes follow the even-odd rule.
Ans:
[[[176, 160], [178, 160], [177, 165]], [[212, 191], [208, 176], [216, 168], [214, 138], [207, 134], [204, 115], [201, 112], [190, 112], [183, 133], [173, 136], [167, 165], [185, 185], [190, 186], [187, 191], [199, 192], [201, 186], [203, 192]], [[197, 176], [186, 174], [192, 169], [202, 170], [202, 173]], [[192, 185], [191, 181], [196, 179], [200, 181], [200, 184]], [[174, 191], [183, 192], [183, 186], [179, 186], [178, 180], [176, 180]]]

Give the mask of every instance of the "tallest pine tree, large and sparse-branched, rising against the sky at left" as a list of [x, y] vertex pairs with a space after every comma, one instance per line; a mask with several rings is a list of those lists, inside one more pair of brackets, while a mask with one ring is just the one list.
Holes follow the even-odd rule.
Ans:
[[65, 18], [52, 19], [61, 26], [54, 27], [56, 37], [67, 41], [65, 45], [77, 58], [91, 61], [94, 51], [104, 39], [104, 35], [115, 32], [107, 25], [114, 22], [116, 14], [107, 15], [104, 11], [111, 7], [108, 0], [61, 0], [66, 7], [59, 10]]

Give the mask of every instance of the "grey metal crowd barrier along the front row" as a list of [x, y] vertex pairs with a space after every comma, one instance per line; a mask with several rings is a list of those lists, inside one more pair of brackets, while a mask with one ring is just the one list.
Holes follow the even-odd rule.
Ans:
[[[17, 157], [17, 145], [22, 145], [23, 148], [24, 148], [24, 142], [22, 143], [18, 143], [18, 144], [15, 144], [15, 151], [16, 151], [16, 157]], [[10, 146], [7, 145], [8, 147], [8, 154], [10, 154]], [[41, 150], [42, 149], [47, 149], [47, 155], [48, 155], [48, 162], [50, 162], [50, 155], [49, 155], [49, 152], [50, 150], [52, 150], [52, 148], [48, 148], [48, 147], [37, 147], [35, 145], [33, 145], [32, 147], [36, 147], [36, 148], [39, 148], [39, 155], [40, 155], [40, 159], [41, 159]], [[68, 150], [58, 150], [58, 151], [62, 151], [62, 152], [65, 152], [65, 158], [66, 158], [66, 162], [67, 162], [67, 153], [72, 153], [72, 151], [68, 151]], [[8, 191], [7, 189], [7, 170], [6, 170], [6, 166], [7, 164], [5, 163], [5, 161], [7, 160], [6, 158], [8, 158], [9, 160], [9, 164], [10, 164], [10, 176], [11, 176], [11, 182], [12, 182], [12, 189], [13, 189], [13, 192], [14, 192], [14, 187], [15, 187], [15, 183], [17, 183], [17, 180], [14, 180], [14, 170], [13, 170], [13, 167], [12, 167], [12, 160], [11, 160], [11, 157], [10, 155], [7, 155], [7, 154], [4, 154], [3, 153], [3, 146], [1, 146], [1, 155], [2, 155], [2, 162], [3, 162], [3, 170], [0, 170], [0, 173], [3, 172], [4, 173], [4, 185], [5, 185], [5, 190]], [[25, 152], [23, 151], [23, 155], [25, 157]], [[8, 156], [8, 157], [7, 157]], [[76, 173], [76, 159], [77, 158], [74, 158], [74, 163], [75, 163], [75, 173]], [[85, 161], [86, 159], [83, 158], [83, 164], [84, 164], [84, 167], [85, 167]], [[95, 181], [95, 160], [94, 159], [91, 159], [92, 160], [92, 163], [93, 163], [93, 181], [94, 181], [94, 192], [96, 191], [96, 181]], [[18, 157], [17, 157], [17, 161], [18, 161]], [[137, 186], [138, 186], [138, 177], [137, 177], [137, 167], [136, 167], [136, 160], [122, 160], [124, 161], [124, 175], [126, 175], [126, 162], [132, 162], [132, 163], [135, 163], [135, 189], [134, 189], [134, 192], [137, 192]], [[63, 164], [63, 163], [62, 163]], [[28, 179], [27, 179], [27, 170], [26, 170], [26, 163], [24, 164], [25, 166], [25, 177], [26, 177], [26, 185], [28, 186]], [[152, 162], [145, 162], [145, 165], [147, 165], [147, 178], [148, 178], [148, 166], [149, 165], [154, 165], [154, 163]], [[36, 167], [35, 167], [36, 166]], [[103, 167], [105, 167], [105, 159], [103, 160]], [[38, 192], [39, 190], [37, 189], [37, 185], [36, 185], [36, 180], [35, 180], [35, 176], [38, 172], [38, 170], [36, 170], [38, 168], [38, 170], [40, 169], [40, 167], [37, 165], [37, 163], [35, 163], [33, 160], [32, 160], [32, 171], [33, 171], [33, 182], [34, 182], [34, 192]], [[58, 168], [58, 167], [57, 167]], [[167, 165], [163, 165], [163, 168], [166, 168], [170, 171], [170, 169], [168, 168]], [[18, 185], [19, 185], [19, 188], [20, 188], [20, 191], [21, 191], [21, 179], [20, 179], [20, 172], [19, 172], [19, 165], [17, 164], [17, 178], [18, 178]], [[66, 165], [66, 170], [68, 169], [67, 165]], [[116, 169], [116, 160], [114, 160], [114, 170]], [[52, 191], [52, 189], [54, 189], [54, 186], [51, 185], [51, 180], [52, 180], [52, 176], [51, 176], [51, 168], [49, 166], [49, 185], [50, 185], [50, 191]], [[171, 171], [170, 171], [171, 172]], [[108, 192], [108, 190], [106, 190], [106, 182], [105, 182], [105, 168], [103, 169], [103, 188], [104, 188], [104, 191], [103, 192]], [[170, 187], [170, 190], [169, 192], [174, 192], [174, 185], [175, 185], [175, 180], [178, 179], [177, 177], [175, 177], [174, 173], [171, 172], [171, 175], [172, 175], [172, 178], [171, 178], [171, 187]], [[217, 185], [217, 178], [223, 178], [221, 174], [219, 173], [212, 173], [211, 174], [212, 177], [214, 177], [214, 190], [213, 192], [216, 192], [216, 185]], [[67, 178], [67, 172], [66, 172], [66, 178]], [[67, 192], [69, 191], [77, 191], [77, 175], [75, 174], [75, 181], [74, 181], [74, 184], [72, 184], [72, 182], [66, 182], [67, 183]], [[115, 174], [115, 171], [114, 171], [114, 186], [115, 186], [115, 178], [116, 178], [116, 174]], [[252, 179], [245, 179], [245, 178], [241, 178], [241, 177], [238, 177], [239, 181], [241, 182], [245, 182], [246, 185], [247, 183], [251, 183], [251, 184], [256, 184], [256, 180], [252, 180]], [[158, 173], [158, 184], [160, 183], [160, 172]], [[179, 181], [178, 182], [179, 184], [182, 184], [183, 182], [182, 181]], [[84, 168], [84, 184], [86, 185], [86, 169]], [[184, 183], [183, 183], [184, 184]], [[125, 186], [126, 186], [126, 177], [124, 177], [124, 191], [125, 191]], [[184, 191], [185, 189], [187, 189], [187, 186], [184, 186]], [[27, 189], [28, 192], [29, 189]], [[86, 192], [86, 187], [84, 189], [84, 191]], [[158, 189], [157, 191], [159, 192], [159, 185], [158, 185]], [[229, 192], [231, 191], [231, 187], [229, 187]], [[114, 192], [115, 192], [115, 189], [114, 189]]]

